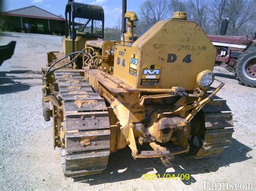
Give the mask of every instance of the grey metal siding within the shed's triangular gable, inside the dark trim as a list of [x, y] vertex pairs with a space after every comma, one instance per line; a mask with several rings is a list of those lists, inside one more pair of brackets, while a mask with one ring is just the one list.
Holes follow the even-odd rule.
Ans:
[[14, 14], [14, 15], [48, 17], [48, 18], [60, 19], [60, 17], [53, 15], [50, 12], [44, 11], [43, 9], [39, 9], [37, 6], [29, 6], [28, 8], [17, 9], [17, 10], [8, 11], [5, 13], [6, 13], [6, 15]]

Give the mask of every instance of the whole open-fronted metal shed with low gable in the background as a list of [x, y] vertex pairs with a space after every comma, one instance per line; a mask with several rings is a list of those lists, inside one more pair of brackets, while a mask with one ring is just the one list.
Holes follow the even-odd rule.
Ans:
[[0, 13], [0, 27], [7, 31], [64, 34], [65, 19], [37, 6]]

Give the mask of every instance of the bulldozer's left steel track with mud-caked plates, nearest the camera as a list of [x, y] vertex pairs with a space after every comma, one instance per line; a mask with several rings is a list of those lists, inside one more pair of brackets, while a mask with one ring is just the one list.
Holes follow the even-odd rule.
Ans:
[[64, 103], [65, 147], [60, 157], [65, 176], [101, 173], [110, 154], [110, 124], [105, 101], [79, 70], [55, 71], [58, 98]]

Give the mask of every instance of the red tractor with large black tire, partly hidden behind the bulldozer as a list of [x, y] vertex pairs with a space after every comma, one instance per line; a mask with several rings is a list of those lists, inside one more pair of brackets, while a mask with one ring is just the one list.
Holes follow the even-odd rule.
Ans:
[[248, 36], [226, 36], [228, 19], [221, 24], [220, 35], [208, 35], [217, 49], [216, 64], [226, 63], [245, 86], [256, 87], [256, 33]]

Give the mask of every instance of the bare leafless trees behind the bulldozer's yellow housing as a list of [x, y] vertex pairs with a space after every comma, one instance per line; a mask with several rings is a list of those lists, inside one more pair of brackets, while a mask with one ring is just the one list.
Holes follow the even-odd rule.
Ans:
[[[256, 32], [256, 0], [146, 0], [139, 6], [134, 32], [141, 34], [159, 20], [185, 11], [187, 19], [198, 23], [207, 34], [219, 34], [223, 19], [228, 18], [227, 35], [253, 36]], [[105, 30], [106, 39], [120, 39], [120, 19]]]

